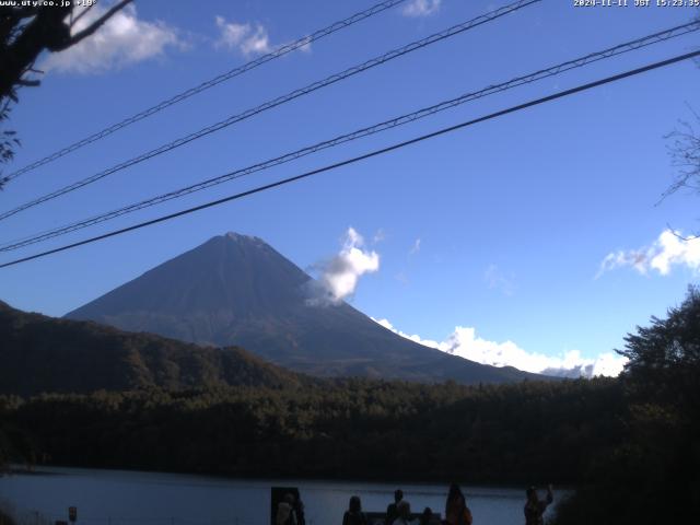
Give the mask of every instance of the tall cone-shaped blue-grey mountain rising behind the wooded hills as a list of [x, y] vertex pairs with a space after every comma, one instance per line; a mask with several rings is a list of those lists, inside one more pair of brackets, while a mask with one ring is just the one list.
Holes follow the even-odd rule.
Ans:
[[308, 275], [262, 240], [229, 233], [66, 317], [196, 343], [236, 345], [279, 365], [319, 376], [465, 384], [542, 378], [423, 347], [347, 303], [311, 305], [311, 282]]

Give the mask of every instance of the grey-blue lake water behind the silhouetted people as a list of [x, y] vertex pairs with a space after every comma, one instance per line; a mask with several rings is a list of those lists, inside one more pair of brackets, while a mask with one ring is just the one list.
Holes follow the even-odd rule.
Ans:
[[[68, 520], [77, 525], [268, 525], [270, 487], [299, 487], [310, 525], [340, 525], [357, 494], [364, 511], [384, 511], [401, 488], [413, 512], [444, 513], [446, 486], [361, 481], [243, 480], [79, 468], [43, 468], [39, 474], [0, 477], [0, 500], [25, 525]], [[475, 525], [524, 523], [524, 490], [463, 487]], [[551, 509], [548, 510], [548, 513]], [[38, 513], [38, 514], [37, 514]]]

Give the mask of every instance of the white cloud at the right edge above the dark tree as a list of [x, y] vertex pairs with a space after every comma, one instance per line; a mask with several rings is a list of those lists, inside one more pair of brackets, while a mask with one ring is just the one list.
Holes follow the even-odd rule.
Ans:
[[700, 270], [700, 240], [686, 240], [678, 231], [664, 230], [651, 246], [606, 255], [596, 279], [606, 271], [625, 267], [634, 268], [644, 276], [652, 270], [667, 276], [675, 266], [685, 266], [692, 271]]

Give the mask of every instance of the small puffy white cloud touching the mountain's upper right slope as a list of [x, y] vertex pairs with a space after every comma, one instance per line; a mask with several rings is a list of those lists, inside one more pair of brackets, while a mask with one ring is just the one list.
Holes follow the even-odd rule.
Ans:
[[380, 269], [380, 255], [363, 249], [364, 240], [353, 228], [346, 232], [342, 248], [334, 258], [316, 265], [319, 277], [313, 281], [311, 305], [338, 304], [354, 293], [360, 277]]

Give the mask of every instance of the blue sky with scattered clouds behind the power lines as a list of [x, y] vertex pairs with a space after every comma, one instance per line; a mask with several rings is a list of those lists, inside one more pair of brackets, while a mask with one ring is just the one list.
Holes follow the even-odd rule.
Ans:
[[[407, 0], [25, 174], [0, 194], [1, 209], [505, 3]], [[23, 145], [5, 170], [371, 4], [136, 2], [82, 48], [42, 59], [43, 85], [23, 90], [12, 113], [11, 127]], [[690, 8], [574, 8], [570, 1], [545, 0], [19, 213], [0, 223], [0, 241], [118, 208], [696, 15]], [[699, 42], [691, 34], [493, 95], [2, 254], [0, 260], [688, 52]], [[697, 281], [700, 248], [667, 232], [700, 230], [697, 197], [679, 194], [655, 205], [674, 175], [664, 136], [679, 119], [692, 117], [690, 107], [700, 107], [699, 82], [698, 66], [684, 62], [5, 268], [0, 270], [0, 299], [22, 310], [62, 315], [211, 236], [235, 231], [262, 237], [304, 269], [323, 267], [334, 257], [358, 262], [352, 293], [346, 290], [342, 296], [386, 326], [443, 350], [529, 370], [579, 370], [603, 357], [596, 370], [614, 370], [619, 363], [612, 363], [610, 351], [622, 347], [623, 336], [651, 315], [663, 316]], [[363, 267], [368, 260], [372, 264]]]

